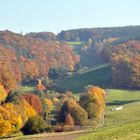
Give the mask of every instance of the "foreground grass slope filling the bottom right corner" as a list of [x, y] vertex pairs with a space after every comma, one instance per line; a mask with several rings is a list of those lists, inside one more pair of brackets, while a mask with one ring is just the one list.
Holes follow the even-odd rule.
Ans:
[[76, 140], [138, 140], [140, 139], [140, 121], [116, 127], [107, 127]]

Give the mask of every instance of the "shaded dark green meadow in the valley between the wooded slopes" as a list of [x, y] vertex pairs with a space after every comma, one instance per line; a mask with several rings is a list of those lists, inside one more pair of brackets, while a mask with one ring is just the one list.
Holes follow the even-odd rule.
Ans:
[[80, 72], [72, 77], [58, 80], [57, 85], [74, 93], [83, 91], [84, 87], [90, 84], [106, 87], [111, 83], [110, 73], [111, 68], [109, 65], [103, 65], [98, 68], [94, 67], [86, 72]]

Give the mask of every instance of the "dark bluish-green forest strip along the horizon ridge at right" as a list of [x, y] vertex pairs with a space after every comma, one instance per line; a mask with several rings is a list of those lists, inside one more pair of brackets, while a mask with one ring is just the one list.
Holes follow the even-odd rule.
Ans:
[[57, 37], [65, 41], [88, 41], [89, 38], [103, 40], [110, 37], [118, 37], [121, 41], [140, 40], [140, 26], [73, 29], [61, 31]]

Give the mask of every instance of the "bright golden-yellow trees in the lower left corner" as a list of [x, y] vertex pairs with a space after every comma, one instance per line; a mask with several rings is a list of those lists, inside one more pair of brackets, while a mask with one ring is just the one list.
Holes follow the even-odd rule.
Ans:
[[10, 102], [0, 105], [0, 137], [18, 132], [33, 116], [36, 116], [36, 111], [26, 100], [18, 105]]

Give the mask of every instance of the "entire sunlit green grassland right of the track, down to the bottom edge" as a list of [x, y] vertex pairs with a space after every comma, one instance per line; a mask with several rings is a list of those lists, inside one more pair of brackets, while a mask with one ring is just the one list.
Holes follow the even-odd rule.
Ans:
[[[140, 91], [108, 90], [107, 116], [102, 128], [76, 140], [136, 140], [140, 139]], [[112, 108], [123, 106], [119, 111]]]

